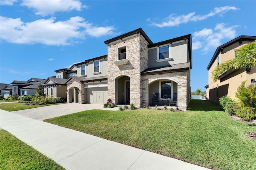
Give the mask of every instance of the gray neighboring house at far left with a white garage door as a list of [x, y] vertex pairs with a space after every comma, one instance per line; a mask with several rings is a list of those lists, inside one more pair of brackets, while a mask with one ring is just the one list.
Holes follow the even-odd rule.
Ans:
[[12, 81], [12, 94], [35, 95], [38, 85], [44, 83], [45, 79], [31, 78], [28, 81]]

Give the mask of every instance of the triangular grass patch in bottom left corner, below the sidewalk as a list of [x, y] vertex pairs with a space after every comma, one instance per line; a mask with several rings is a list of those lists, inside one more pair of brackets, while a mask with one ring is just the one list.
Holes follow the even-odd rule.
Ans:
[[6, 130], [0, 130], [0, 150], [0, 169], [2, 170], [65, 170]]

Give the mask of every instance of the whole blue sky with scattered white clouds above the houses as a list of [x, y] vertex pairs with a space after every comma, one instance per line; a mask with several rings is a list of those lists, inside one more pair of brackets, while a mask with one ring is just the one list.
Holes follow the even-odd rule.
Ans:
[[54, 76], [107, 54], [105, 40], [142, 28], [153, 43], [192, 34], [191, 90], [205, 91], [216, 48], [256, 36], [256, 1], [0, 0], [0, 82]]

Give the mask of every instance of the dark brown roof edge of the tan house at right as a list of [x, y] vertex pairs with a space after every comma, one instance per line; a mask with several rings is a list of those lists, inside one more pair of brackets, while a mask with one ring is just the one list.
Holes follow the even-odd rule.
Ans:
[[236, 42], [239, 42], [239, 41], [251, 41], [252, 42], [254, 40], [256, 40], [256, 36], [239, 36], [239, 37], [237, 37], [237, 38], [235, 38], [235, 39], [233, 39], [233, 40], [231, 40], [227, 43], [224, 43], [224, 44], [220, 45], [219, 47], [217, 47], [214, 55], [212, 56], [212, 59], [211, 59], [210, 63], [207, 66], [207, 69], [209, 70], [212, 67], [212, 64], [214, 63], [214, 61], [218, 57], [218, 55], [220, 53], [220, 50], [222, 48], [228, 47], [228, 46], [230, 46], [230, 45], [232, 45]]

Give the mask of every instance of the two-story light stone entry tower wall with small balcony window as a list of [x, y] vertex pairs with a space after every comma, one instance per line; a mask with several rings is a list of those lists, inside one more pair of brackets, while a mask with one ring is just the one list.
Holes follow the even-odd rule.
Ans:
[[[108, 98], [116, 103], [116, 79], [122, 76], [130, 77], [130, 103], [136, 107], [142, 104], [142, 76], [141, 71], [148, 68], [147, 42], [143, 36], [134, 34], [124, 40], [108, 45]], [[128, 63], [116, 65], [118, 49], [126, 47]]]

